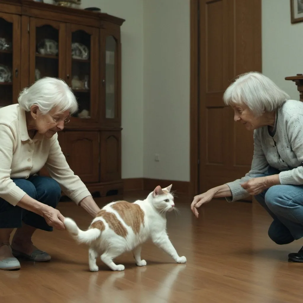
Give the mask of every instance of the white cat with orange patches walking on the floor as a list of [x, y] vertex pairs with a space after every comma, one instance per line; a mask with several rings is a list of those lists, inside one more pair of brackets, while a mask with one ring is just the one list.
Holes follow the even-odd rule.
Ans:
[[71, 218], [64, 225], [78, 243], [89, 246], [88, 265], [90, 271], [98, 271], [96, 258], [100, 258], [113, 271], [123, 271], [125, 266], [115, 264], [113, 259], [126, 251], [132, 251], [138, 266], [145, 266], [141, 259], [142, 244], [151, 239], [155, 245], [167, 252], [177, 263], [185, 263], [166, 233], [166, 212], [175, 209], [171, 186], [158, 185], [145, 200], [133, 203], [115, 201], [105, 205], [92, 220], [86, 231], [78, 228]]

